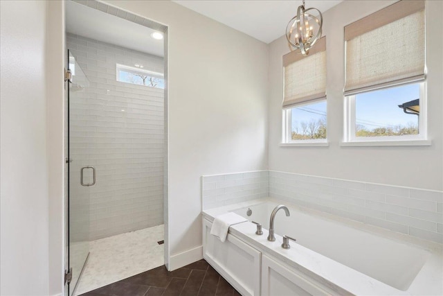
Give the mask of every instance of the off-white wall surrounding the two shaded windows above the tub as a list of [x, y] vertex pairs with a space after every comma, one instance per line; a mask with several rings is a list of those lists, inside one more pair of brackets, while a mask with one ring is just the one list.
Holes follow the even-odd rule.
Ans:
[[341, 147], [343, 139], [343, 27], [395, 1], [343, 1], [323, 14], [327, 38], [329, 147], [280, 147], [282, 55], [285, 37], [270, 44], [269, 169], [363, 182], [443, 189], [442, 1], [426, 1], [428, 134], [430, 147]]

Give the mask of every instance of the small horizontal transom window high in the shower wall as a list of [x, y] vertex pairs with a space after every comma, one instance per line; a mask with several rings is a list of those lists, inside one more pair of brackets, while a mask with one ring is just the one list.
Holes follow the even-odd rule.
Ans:
[[159, 89], [165, 88], [163, 73], [143, 69], [142, 64], [134, 64], [134, 67], [117, 64], [117, 81], [132, 83], [133, 85], [145, 85]]

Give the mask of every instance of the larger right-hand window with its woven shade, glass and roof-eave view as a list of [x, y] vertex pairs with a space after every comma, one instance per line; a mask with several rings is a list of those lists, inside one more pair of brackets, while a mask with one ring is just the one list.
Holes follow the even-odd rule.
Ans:
[[345, 141], [426, 139], [424, 1], [345, 27]]

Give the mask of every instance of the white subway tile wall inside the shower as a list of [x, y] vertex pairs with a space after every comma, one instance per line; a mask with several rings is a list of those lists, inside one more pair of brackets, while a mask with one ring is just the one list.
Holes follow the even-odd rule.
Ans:
[[[66, 41], [90, 85], [70, 105], [73, 164], [78, 158], [97, 171], [89, 187], [89, 239], [162, 224], [164, 92], [118, 82], [116, 64], [163, 73], [163, 58], [78, 35]], [[71, 177], [71, 184], [79, 181]]]

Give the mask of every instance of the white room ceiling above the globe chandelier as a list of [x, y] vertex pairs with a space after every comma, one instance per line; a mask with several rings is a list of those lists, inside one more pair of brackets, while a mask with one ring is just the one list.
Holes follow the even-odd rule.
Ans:
[[[284, 35], [289, 20], [296, 15], [301, 0], [172, 0], [191, 10], [206, 15], [226, 26], [270, 43]], [[325, 12], [342, 0], [306, 0], [306, 8]]]

